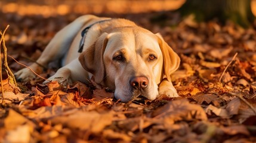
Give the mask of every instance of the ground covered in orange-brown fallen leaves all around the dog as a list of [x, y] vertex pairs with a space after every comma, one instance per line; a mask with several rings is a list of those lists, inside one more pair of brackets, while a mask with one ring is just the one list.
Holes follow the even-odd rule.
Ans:
[[[8, 54], [31, 64], [77, 16], [1, 14], [1, 29], [10, 24], [5, 34]], [[256, 142], [254, 28], [229, 21], [195, 23], [175, 13], [114, 17], [160, 32], [180, 55], [180, 68], [172, 75], [180, 97], [121, 103], [93, 80], [90, 85], [43, 85], [39, 77], [18, 83], [19, 92], [3, 70], [0, 142]], [[11, 58], [8, 64], [13, 71], [23, 68]], [[56, 65], [41, 76], [53, 75]]]

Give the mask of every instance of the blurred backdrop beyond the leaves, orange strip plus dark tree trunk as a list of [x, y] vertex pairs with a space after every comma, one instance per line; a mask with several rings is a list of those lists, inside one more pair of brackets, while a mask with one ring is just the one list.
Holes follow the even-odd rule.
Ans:
[[195, 15], [195, 20], [227, 19], [248, 27], [256, 15], [256, 0], [1, 0], [1, 13], [41, 15], [44, 18], [67, 14], [141, 14], [178, 11], [181, 17]]

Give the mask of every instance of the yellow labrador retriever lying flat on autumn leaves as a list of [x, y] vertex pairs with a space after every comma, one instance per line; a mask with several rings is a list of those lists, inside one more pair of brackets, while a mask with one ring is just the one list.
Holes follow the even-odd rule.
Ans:
[[[170, 75], [178, 69], [180, 58], [161, 35], [129, 20], [77, 18], [54, 36], [37, 63], [47, 66], [60, 58], [63, 67], [50, 80], [87, 83], [94, 76], [96, 83], [115, 90], [115, 98], [122, 102], [140, 95], [149, 100], [161, 94], [178, 96]], [[30, 68], [42, 71], [36, 63]], [[15, 75], [23, 81], [35, 77], [29, 69]]]

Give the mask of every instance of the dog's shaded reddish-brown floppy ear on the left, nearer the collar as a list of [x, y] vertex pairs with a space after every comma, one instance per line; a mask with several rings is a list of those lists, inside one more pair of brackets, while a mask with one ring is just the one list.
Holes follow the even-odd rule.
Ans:
[[86, 48], [79, 56], [82, 67], [94, 75], [94, 80], [97, 83], [102, 82], [105, 76], [103, 54], [108, 41], [107, 35], [107, 33], [103, 33], [94, 44]]

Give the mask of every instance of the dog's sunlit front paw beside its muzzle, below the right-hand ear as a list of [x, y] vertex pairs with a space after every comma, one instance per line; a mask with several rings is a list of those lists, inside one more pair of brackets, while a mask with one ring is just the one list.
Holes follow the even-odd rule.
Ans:
[[176, 89], [168, 80], [163, 80], [159, 85], [159, 95], [163, 94], [168, 97], [179, 97]]

